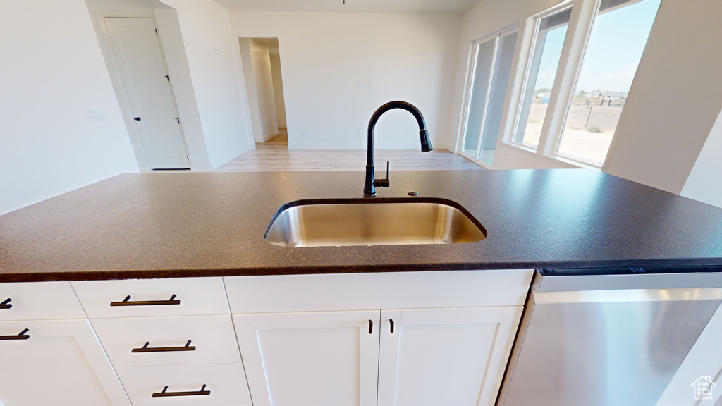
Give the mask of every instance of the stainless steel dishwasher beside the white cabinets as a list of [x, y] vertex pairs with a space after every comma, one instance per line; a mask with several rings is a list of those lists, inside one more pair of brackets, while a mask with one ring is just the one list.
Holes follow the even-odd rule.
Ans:
[[654, 406], [721, 288], [722, 267], [538, 269], [497, 406]]

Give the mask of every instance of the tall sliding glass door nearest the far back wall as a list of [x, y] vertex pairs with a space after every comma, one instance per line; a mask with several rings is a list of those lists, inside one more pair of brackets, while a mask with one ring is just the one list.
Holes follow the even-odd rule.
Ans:
[[461, 154], [491, 165], [511, 74], [517, 33], [502, 33], [474, 43]]

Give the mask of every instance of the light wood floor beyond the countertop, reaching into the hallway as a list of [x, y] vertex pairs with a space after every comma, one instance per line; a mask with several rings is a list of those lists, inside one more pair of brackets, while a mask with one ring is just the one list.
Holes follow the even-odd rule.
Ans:
[[[482, 170], [460, 155], [448, 150], [375, 150], [377, 171], [391, 170]], [[289, 172], [316, 170], [365, 170], [366, 150], [289, 150], [288, 136], [281, 132], [256, 149], [245, 152], [216, 172]]]

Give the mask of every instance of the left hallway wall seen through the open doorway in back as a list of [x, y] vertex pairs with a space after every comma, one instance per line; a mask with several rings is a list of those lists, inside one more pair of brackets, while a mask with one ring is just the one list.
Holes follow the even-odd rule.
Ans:
[[[278, 134], [276, 118], [276, 102], [273, 92], [273, 74], [271, 73], [271, 56], [269, 48], [257, 40], [248, 41], [251, 48], [251, 64], [253, 77], [256, 79], [256, 97], [258, 102], [258, 118], [261, 123], [261, 142]], [[256, 139], [258, 142], [258, 139]]]

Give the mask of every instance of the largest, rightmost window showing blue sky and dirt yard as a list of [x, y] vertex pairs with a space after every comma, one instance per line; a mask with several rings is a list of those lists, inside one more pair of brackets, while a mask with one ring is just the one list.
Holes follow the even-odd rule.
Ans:
[[659, 3], [600, 2], [557, 155], [604, 163]]

